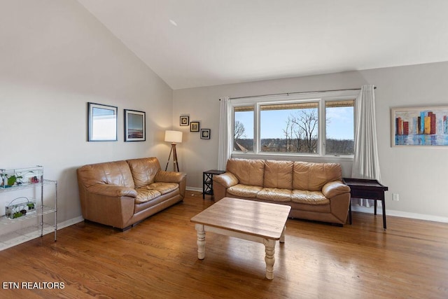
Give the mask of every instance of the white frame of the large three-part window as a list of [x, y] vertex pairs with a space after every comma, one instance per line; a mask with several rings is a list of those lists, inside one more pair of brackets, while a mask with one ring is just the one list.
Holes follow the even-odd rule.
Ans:
[[[341, 100], [353, 100], [353, 131], [356, 127], [356, 98], [359, 95], [359, 90], [338, 90], [331, 92], [303, 92], [297, 94], [285, 94], [275, 96], [261, 96], [261, 97], [246, 97], [233, 98], [230, 100], [231, 115], [231, 131], [228, 132], [228, 137], [232, 141], [232, 158], [279, 158], [279, 159], [297, 159], [303, 160], [353, 160], [352, 155], [337, 155], [325, 153], [325, 103], [335, 102]], [[318, 153], [273, 153], [261, 151], [260, 140], [260, 106], [267, 104], [293, 104], [304, 102], [318, 102]], [[253, 151], [234, 151], [233, 134], [235, 130], [235, 107], [239, 106], [253, 106]], [[353, 132], [353, 138], [355, 132]]]

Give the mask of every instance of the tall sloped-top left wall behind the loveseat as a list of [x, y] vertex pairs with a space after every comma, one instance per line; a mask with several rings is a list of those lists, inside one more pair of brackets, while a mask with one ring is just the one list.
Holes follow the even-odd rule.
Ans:
[[[172, 89], [77, 1], [0, 6], [0, 168], [43, 165], [59, 181], [58, 221], [79, 218], [77, 167], [165, 159]], [[118, 106], [118, 141], [86, 141], [87, 102]], [[123, 109], [146, 111], [146, 141], [123, 141]]]

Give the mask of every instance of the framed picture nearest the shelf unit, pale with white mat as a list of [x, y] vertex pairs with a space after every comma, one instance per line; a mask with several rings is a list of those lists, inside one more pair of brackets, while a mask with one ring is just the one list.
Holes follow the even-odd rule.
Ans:
[[87, 102], [87, 141], [117, 141], [116, 106]]

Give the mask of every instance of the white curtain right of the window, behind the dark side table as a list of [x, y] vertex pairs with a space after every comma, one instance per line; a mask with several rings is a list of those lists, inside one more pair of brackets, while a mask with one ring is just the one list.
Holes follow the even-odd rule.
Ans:
[[[355, 106], [355, 148], [351, 177], [356, 179], [376, 179], [381, 182], [374, 85], [363, 85], [361, 87]], [[363, 207], [371, 207], [374, 201], [359, 200], [358, 204]]]

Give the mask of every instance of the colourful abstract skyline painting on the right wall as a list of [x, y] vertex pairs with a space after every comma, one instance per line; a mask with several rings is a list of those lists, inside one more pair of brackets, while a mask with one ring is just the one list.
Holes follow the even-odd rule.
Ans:
[[392, 146], [448, 146], [448, 106], [391, 109]]

